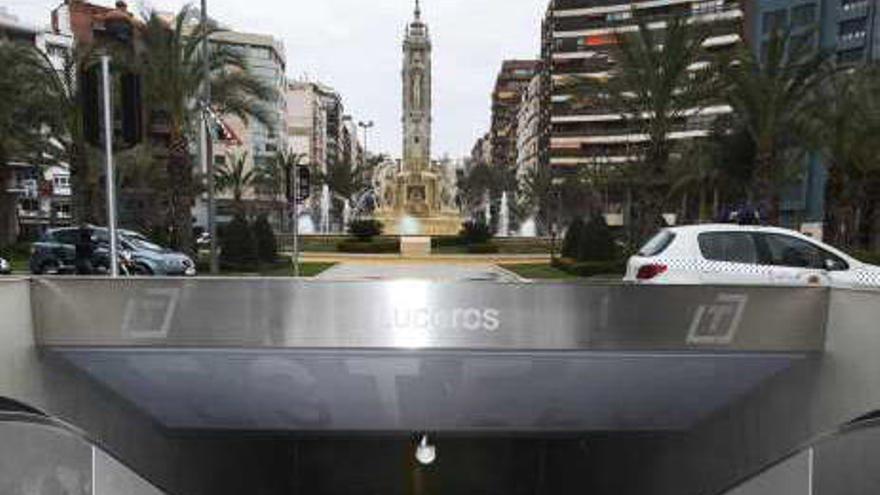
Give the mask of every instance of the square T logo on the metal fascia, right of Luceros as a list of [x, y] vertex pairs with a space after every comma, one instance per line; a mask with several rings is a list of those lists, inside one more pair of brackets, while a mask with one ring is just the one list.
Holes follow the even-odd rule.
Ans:
[[688, 344], [731, 344], [748, 302], [749, 296], [745, 294], [719, 294], [712, 304], [700, 305], [691, 322]]

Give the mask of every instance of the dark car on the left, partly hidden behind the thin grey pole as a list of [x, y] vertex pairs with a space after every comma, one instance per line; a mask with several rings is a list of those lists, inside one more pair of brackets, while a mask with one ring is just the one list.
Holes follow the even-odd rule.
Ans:
[[[107, 229], [87, 227], [92, 242], [91, 265], [97, 273], [110, 270], [110, 235]], [[33, 245], [30, 259], [31, 273], [76, 273], [76, 244], [78, 227], [52, 229]], [[196, 266], [189, 256], [153, 244], [136, 232], [118, 231], [119, 249], [133, 265], [138, 275], [193, 276]]]

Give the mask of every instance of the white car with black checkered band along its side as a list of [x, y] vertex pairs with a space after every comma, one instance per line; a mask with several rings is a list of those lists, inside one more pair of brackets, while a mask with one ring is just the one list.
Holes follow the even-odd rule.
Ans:
[[629, 259], [624, 281], [880, 288], [880, 267], [792, 230], [694, 225], [661, 230]]

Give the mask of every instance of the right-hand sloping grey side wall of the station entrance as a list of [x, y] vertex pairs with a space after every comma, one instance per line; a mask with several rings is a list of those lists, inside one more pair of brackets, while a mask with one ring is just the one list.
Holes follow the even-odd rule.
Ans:
[[880, 410], [880, 292], [832, 291], [827, 330], [824, 355], [665, 442], [626, 492], [722, 493], [821, 435]]

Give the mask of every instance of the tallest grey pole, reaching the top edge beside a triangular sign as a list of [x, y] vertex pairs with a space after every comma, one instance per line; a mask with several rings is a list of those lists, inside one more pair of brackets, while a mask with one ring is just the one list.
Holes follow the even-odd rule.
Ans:
[[202, 155], [202, 170], [208, 176], [208, 235], [211, 243], [211, 274], [220, 273], [220, 262], [217, 256], [217, 200], [214, 194], [214, 157], [211, 146], [211, 62], [210, 40], [208, 39], [208, 1], [202, 0], [202, 125], [200, 126], [199, 153]]

